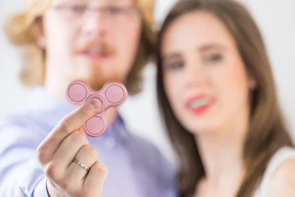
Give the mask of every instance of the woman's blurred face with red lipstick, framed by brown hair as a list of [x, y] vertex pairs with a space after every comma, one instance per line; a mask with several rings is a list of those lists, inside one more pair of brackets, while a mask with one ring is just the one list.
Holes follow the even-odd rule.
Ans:
[[161, 46], [164, 90], [184, 128], [223, 131], [247, 120], [255, 82], [218, 18], [204, 11], [185, 14], [168, 27]]

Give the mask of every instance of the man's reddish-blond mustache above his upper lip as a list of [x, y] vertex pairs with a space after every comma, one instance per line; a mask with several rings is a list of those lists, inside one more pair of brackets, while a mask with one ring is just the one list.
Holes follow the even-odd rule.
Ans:
[[108, 44], [107, 42], [105, 42], [103, 40], [98, 40], [98, 39], [97, 40], [86, 40], [86, 41], [77, 43], [73, 47], [73, 52], [74, 53], [83, 52], [83, 51], [87, 51], [91, 48], [97, 48], [97, 49], [99, 49], [99, 51], [101, 53], [105, 53], [105, 54], [109, 54], [109, 55], [113, 55], [116, 52], [115, 47], [111, 46], [110, 44]]

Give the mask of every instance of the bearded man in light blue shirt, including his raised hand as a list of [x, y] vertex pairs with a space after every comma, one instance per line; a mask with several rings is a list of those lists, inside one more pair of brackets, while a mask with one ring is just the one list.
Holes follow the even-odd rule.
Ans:
[[153, 50], [153, 3], [27, 4], [6, 23], [6, 33], [12, 43], [27, 47], [21, 79], [35, 87], [26, 110], [0, 126], [0, 139], [5, 139], [0, 144], [0, 196], [176, 195], [172, 168], [151, 144], [126, 130], [116, 108], [105, 115], [107, 131], [93, 138], [81, 126], [101, 106], [91, 100], [77, 108], [65, 99], [73, 79], [94, 90], [116, 80], [129, 94], [140, 91], [141, 71]]

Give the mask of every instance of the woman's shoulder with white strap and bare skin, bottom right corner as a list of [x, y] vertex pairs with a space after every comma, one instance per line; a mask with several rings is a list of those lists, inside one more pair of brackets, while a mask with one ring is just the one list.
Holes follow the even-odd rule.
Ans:
[[259, 197], [295, 197], [295, 148], [282, 147], [269, 161]]

